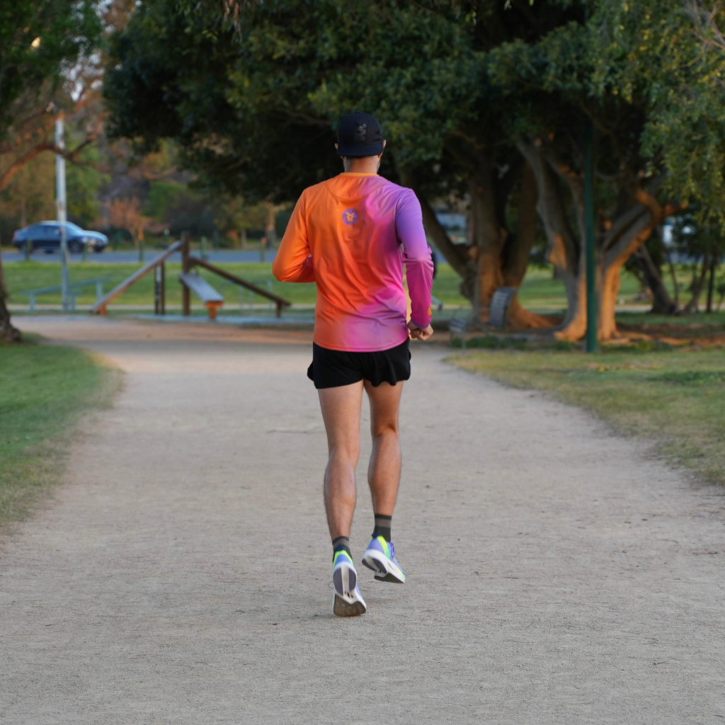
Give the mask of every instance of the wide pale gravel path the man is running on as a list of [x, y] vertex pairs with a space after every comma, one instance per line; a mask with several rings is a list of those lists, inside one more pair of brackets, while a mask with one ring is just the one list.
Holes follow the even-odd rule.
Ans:
[[642, 444], [416, 347], [408, 584], [339, 620], [307, 334], [23, 323], [127, 376], [0, 545], [2, 723], [725, 719], [725, 498]]

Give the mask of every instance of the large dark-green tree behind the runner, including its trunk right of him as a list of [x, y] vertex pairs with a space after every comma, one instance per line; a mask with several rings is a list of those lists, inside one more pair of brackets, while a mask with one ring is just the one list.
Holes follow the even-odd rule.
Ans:
[[[544, 27], [566, 13], [536, 12]], [[141, 151], [173, 138], [208, 183], [284, 202], [339, 170], [334, 125], [364, 106], [386, 123], [384, 173], [415, 188], [429, 233], [485, 318], [494, 289], [521, 283], [536, 198], [531, 170], [491, 112], [477, 47], [492, 46], [498, 33], [537, 32], [518, 7], [505, 12], [489, 1], [486, 13], [491, 27], [473, 28], [472, 43], [471, 25], [432, 4], [291, 0], [242, 7], [232, 26], [215, 5], [180, 14], [157, 0], [112, 41], [105, 92], [113, 133], [137, 139]], [[333, 30], [341, 17], [344, 34]], [[433, 199], [450, 194], [471, 199], [471, 251], [452, 244], [432, 210]], [[547, 324], [518, 303], [510, 317]]]

